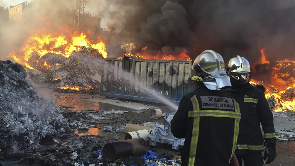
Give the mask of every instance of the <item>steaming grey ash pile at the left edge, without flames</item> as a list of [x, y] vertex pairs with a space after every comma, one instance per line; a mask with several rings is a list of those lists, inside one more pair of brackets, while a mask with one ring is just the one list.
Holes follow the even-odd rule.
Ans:
[[53, 143], [52, 134], [74, 132], [54, 100], [39, 97], [18, 63], [0, 60], [0, 151], [17, 153]]

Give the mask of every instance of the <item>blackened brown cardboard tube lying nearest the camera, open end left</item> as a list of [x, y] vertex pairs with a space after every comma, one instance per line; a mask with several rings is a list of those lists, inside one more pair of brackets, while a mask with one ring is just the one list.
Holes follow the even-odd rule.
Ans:
[[104, 145], [103, 152], [107, 161], [113, 161], [132, 155], [143, 155], [147, 149], [147, 143], [143, 138], [135, 138], [107, 143]]

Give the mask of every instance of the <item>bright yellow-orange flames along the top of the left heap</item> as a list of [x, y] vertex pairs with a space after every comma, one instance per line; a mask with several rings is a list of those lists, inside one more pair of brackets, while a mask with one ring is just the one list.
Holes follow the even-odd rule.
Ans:
[[[104, 58], [107, 57], [106, 45], [104, 42], [90, 40], [87, 34], [77, 31], [69, 35], [34, 31], [33, 35], [27, 40], [24, 46], [18, 50], [18, 52], [22, 52], [22, 55], [12, 51], [8, 57], [12, 57], [18, 63], [33, 69], [27, 62], [35, 52], [40, 57], [47, 53], [53, 53], [68, 58], [73, 51], [79, 51], [82, 46], [86, 48], [92, 47], [98, 50]], [[58, 65], [58, 63], [56, 65]]]

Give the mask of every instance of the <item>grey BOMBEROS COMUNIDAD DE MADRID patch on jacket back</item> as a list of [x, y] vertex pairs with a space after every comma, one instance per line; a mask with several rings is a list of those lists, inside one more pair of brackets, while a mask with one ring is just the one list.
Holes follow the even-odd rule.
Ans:
[[235, 109], [231, 98], [219, 96], [200, 96], [200, 98], [202, 108]]

